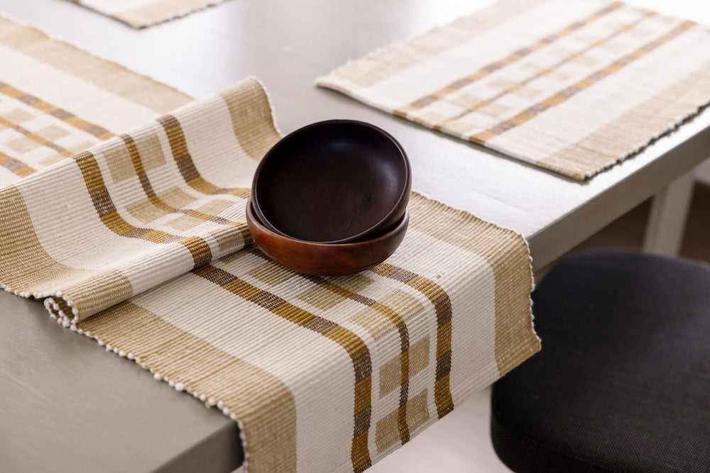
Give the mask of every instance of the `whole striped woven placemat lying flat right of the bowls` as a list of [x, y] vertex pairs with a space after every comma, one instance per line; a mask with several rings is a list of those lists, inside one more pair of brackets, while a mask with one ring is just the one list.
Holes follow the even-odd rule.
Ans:
[[317, 80], [583, 180], [710, 102], [710, 29], [604, 0], [501, 0]]

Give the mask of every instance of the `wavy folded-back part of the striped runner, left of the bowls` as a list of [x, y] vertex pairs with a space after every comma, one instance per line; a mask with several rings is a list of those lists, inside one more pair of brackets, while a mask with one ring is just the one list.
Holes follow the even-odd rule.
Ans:
[[278, 138], [246, 79], [0, 189], [0, 283], [76, 323], [250, 245], [249, 170]]

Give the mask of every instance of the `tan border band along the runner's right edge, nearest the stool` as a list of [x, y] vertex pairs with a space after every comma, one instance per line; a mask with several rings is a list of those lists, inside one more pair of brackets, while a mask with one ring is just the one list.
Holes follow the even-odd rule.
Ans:
[[[410, 228], [479, 255], [491, 266], [495, 279], [495, 355], [501, 376], [540, 351], [540, 339], [532, 330], [532, 268], [525, 239], [417, 193], [412, 194], [409, 209]], [[473, 223], [478, 223], [474, 234]], [[450, 330], [450, 318], [445, 326]], [[442, 351], [437, 349], [437, 354]], [[450, 356], [442, 360], [442, 365], [447, 362], [450, 363]]]

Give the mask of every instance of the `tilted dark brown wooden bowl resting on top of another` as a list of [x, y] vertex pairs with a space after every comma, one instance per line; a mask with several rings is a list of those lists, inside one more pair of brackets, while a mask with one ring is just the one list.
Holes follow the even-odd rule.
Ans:
[[349, 243], [401, 221], [411, 187], [407, 155], [389, 133], [329, 120], [295, 130], [266, 153], [251, 199], [259, 221], [275, 233]]

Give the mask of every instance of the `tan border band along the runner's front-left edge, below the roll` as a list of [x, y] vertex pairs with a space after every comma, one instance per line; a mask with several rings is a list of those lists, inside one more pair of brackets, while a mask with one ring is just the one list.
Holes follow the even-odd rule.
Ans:
[[[254, 471], [295, 471], [295, 401], [278, 377], [128, 301], [80, 322], [77, 328], [182, 383], [193, 394], [213, 397], [238, 413], [246, 435], [244, 449]], [[207, 372], [217, 375], [205, 376]], [[267, 394], [268, 404], [258, 412], [239, 410], [261, 406]], [[265, 412], [268, 416], [263, 416]]]

